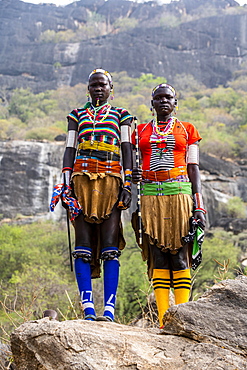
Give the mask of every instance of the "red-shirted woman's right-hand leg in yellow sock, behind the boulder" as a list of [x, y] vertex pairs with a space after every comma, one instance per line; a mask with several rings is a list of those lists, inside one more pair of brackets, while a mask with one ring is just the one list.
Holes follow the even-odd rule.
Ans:
[[180, 304], [188, 302], [191, 287], [188, 246], [185, 245], [180, 248], [177, 254], [170, 254], [170, 258], [173, 271], [175, 303]]

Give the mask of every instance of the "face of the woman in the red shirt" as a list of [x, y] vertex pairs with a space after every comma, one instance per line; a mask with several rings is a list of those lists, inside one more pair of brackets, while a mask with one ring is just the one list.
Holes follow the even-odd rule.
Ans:
[[160, 87], [155, 91], [151, 104], [156, 110], [157, 118], [169, 117], [177, 104], [177, 99], [169, 88]]

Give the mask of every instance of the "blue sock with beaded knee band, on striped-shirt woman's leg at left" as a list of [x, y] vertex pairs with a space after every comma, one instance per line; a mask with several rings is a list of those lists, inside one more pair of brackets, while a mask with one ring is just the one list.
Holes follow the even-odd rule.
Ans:
[[[91, 257], [91, 248], [77, 247], [75, 252], [83, 252]], [[75, 253], [74, 253], [75, 254]], [[84, 262], [82, 258], [75, 259], [75, 275], [81, 296], [82, 307], [85, 318], [90, 315], [95, 317], [93, 292], [92, 292], [92, 280], [91, 280], [91, 266], [90, 262]], [[94, 320], [93, 317], [88, 317], [88, 320]]]

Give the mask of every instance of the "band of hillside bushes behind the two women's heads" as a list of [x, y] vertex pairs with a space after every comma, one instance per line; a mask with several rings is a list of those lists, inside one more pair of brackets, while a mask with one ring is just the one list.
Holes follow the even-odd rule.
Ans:
[[[246, 157], [247, 91], [242, 80], [239, 72], [228, 87], [207, 89], [190, 75], [175, 77], [178, 118], [198, 128], [203, 137], [202, 151], [233, 160]], [[113, 81], [114, 105], [127, 108], [139, 122], [150, 120], [151, 90], [166, 79], [152, 74], [131, 78], [120, 72], [113, 74]], [[28, 89], [14, 90], [8, 104], [0, 105], [0, 139], [53, 141], [58, 134], [66, 133], [66, 116], [72, 108], [85, 103], [86, 92], [85, 84], [39, 94]]]

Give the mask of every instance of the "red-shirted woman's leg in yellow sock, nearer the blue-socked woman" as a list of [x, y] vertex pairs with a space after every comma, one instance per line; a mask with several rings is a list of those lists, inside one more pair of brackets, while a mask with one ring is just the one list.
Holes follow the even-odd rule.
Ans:
[[158, 308], [160, 327], [163, 326], [163, 316], [169, 308], [170, 268], [169, 254], [164, 253], [156, 245], [150, 246], [154, 260], [152, 283]]

